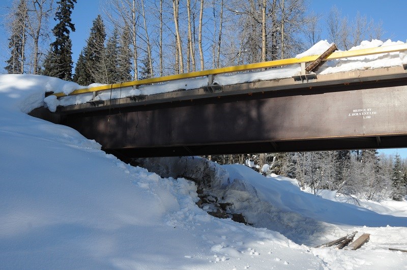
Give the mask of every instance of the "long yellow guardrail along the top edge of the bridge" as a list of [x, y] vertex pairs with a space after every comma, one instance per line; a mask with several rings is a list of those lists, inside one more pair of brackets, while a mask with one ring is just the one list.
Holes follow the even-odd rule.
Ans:
[[[379, 54], [379, 53], [400, 52], [400, 51], [406, 51], [406, 50], [407, 50], [407, 43], [391, 45], [391, 46], [384, 46], [384, 47], [369, 48], [369, 49], [334, 52], [331, 55], [329, 55], [328, 57], [326, 57], [326, 60], [334, 60], [334, 59], [356, 57], [356, 56], [365, 56], [365, 55], [372, 55], [372, 54]], [[315, 61], [318, 57], [319, 57], [319, 55], [305, 56], [302, 58], [287, 58], [287, 59], [281, 59], [281, 60], [260, 62], [260, 63], [255, 63], [255, 64], [247, 64], [247, 65], [240, 65], [240, 66], [233, 66], [233, 67], [226, 67], [226, 68], [219, 68], [219, 69], [210, 69], [210, 70], [204, 70], [204, 71], [183, 73], [183, 74], [177, 74], [177, 75], [169, 75], [169, 76], [163, 76], [163, 77], [157, 77], [157, 78], [151, 78], [151, 79], [106, 84], [106, 85], [100, 85], [100, 86], [96, 86], [96, 87], [77, 89], [77, 90], [71, 92], [69, 95], [78, 95], [78, 94], [84, 94], [84, 93], [92, 93], [92, 92], [97, 92], [97, 91], [110, 90], [110, 89], [115, 89], [115, 88], [120, 88], [120, 87], [159, 83], [159, 82], [173, 81], [173, 80], [179, 80], [179, 79], [190, 79], [190, 78], [231, 73], [231, 72], [240, 72], [240, 71], [248, 71], [248, 70], [256, 70], [256, 69], [288, 66], [288, 65], [312, 62], [312, 61]], [[64, 93], [55, 93], [53, 95], [55, 95], [56, 97], [66, 96]]]

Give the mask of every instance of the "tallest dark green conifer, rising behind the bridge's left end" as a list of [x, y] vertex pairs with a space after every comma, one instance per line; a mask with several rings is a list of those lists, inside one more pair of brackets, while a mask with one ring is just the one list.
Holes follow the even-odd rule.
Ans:
[[70, 31], [75, 32], [75, 25], [71, 22], [71, 14], [76, 0], [60, 0], [55, 14], [59, 21], [52, 33], [55, 41], [51, 43], [50, 51], [44, 62], [44, 75], [64, 80], [72, 79], [72, 41]]

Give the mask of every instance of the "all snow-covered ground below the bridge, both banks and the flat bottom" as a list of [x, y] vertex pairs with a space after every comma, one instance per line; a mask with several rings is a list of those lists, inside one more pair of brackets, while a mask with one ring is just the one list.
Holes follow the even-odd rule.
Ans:
[[[50, 89], [77, 85], [35, 75], [0, 75], [0, 268], [402, 269], [406, 203], [381, 213], [300, 191], [287, 179], [199, 158], [132, 167], [95, 141], [28, 116]], [[214, 168], [211, 192], [253, 226], [199, 208], [179, 166]], [[165, 175], [167, 172], [168, 175]], [[401, 214], [400, 214], [401, 213]], [[404, 213], [404, 214], [403, 214]], [[312, 246], [352, 231], [370, 233], [357, 251]]]

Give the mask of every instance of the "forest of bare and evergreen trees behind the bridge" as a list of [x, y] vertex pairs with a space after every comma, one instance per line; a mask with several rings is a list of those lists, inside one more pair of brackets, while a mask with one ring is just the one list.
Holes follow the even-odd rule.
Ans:
[[[360, 13], [343, 16], [335, 6], [315, 14], [305, 0], [102, 2], [73, 63], [76, 0], [14, 0], [2, 73], [106, 84], [292, 57], [321, 39], [347, 50], [363, 40], [389, 38], [380, 21]], [[315, 194], [329, 189], [376, 201], [407, 194], [407, 161], [375, 149], [208, 158], [296, 178]]]

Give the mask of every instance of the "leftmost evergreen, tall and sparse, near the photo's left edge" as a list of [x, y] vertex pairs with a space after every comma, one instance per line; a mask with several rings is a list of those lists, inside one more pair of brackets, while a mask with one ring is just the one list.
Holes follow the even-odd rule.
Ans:
[[8, 74], [22, 74], [24, 72], [25, 24], [27, 20], [26, 0], [20, 0], [13, 14], [11, 37], [9, 40], [10, 58], [6, 61]]

